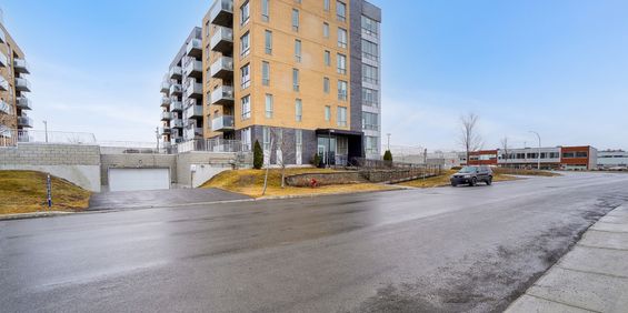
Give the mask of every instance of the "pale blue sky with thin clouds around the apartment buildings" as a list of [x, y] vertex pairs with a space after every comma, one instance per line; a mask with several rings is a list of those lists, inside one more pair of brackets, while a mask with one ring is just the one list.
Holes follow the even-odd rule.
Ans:
[[[313, 1], [313, 0], [307, 0]], [[372, 0], [382, 143], [628, 149], [628, 1]], [[36, 129], [154, 141], [162, 75], [210, 0], [1, 0], [31, 68]], [[307, 118], [307, 117], [305, 117]]]

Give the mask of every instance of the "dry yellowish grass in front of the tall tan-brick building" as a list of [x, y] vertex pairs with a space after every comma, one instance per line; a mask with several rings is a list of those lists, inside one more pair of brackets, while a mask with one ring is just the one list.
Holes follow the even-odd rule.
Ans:
[[[303, 174], [303, 173], [330, 173], [337, 172], [336, 170], [328, 169], [286, 169], [286, 175]], [[225, 171], [211, 180], [206, 182], [201, 188], [218, 188], [231, 192], [242, 193], [252, 198], [262, 196], [263, 176], [266, 170], [235, 170]], [[328, 193], [352, 193], [366, 191], [381, 191], [393, 190], [395, 186], [360, 183], [360, 184], [338, 184], [325, 185], [319, 188], [296, 188], [286, 186], [281, 188], [281, 170], [272, 169], [268, 174], [268, 189], [265, 196], [281, 196], [281, 195], [317, 195]]]

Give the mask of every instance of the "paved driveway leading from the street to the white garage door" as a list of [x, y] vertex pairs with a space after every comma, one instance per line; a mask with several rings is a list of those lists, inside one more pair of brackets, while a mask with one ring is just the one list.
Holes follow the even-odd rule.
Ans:
[[218, 201], [247, 200], [248, 195], [220, 189], [170, 189], [94, 193], [88, 211], [162, 208]]

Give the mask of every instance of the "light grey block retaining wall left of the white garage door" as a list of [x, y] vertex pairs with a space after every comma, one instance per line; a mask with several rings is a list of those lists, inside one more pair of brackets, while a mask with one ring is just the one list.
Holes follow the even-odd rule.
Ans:
[[100, 192], [98, 145], [18, 144], [0, 148], [0, 170], [50, 173], [83, 189]]

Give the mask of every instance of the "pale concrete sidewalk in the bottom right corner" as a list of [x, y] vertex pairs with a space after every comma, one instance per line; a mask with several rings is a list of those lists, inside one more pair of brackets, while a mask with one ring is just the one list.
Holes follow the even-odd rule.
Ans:
[[628, 312], [628, 204], [594, 224], [506, 312]]

